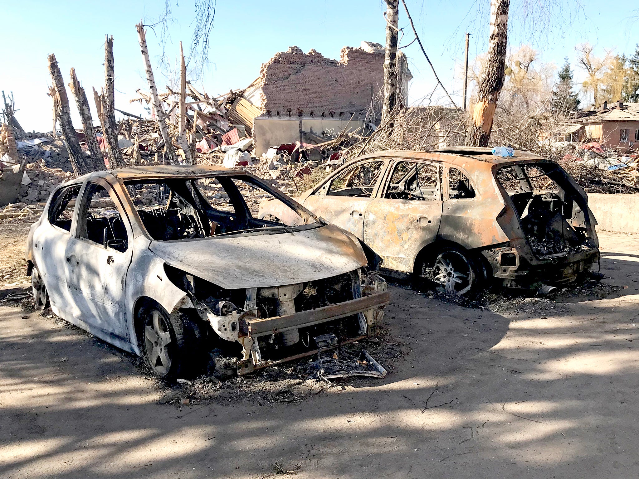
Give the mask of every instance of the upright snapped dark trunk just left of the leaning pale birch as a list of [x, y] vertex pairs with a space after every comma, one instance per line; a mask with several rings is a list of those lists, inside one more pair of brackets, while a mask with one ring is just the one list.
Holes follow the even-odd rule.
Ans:
[[113, 37], [107, 36], [104, 43], [104, 95], [102, 95], [102, 134], [107, 143], [109, 168], [121, 168], [125, 165], [118, 144], [118, 128], [115, 112], [115, 81], [113, 60]]

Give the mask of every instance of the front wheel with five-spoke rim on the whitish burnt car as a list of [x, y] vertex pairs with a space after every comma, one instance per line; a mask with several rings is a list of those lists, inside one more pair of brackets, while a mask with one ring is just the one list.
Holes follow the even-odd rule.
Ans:
[[144, 305], [138, 317], [142, 356], [155, 376], [170, 381], [206, 370], [203, 335], [196, 320], [180, 310], [169, 315], [153, 304]]

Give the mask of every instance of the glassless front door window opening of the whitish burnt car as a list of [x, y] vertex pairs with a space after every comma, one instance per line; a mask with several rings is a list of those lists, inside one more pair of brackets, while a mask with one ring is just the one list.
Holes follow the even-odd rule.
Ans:
[[88, 183], [86, 203], [82, 210], [78, 224], [79, 238], [88, 239], [116, 251], [127, 250], [127, 229], [118, 207], [104, 186]]

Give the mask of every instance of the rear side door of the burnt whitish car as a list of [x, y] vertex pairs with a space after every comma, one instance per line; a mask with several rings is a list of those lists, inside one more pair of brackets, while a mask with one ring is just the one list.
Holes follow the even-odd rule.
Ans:
[[73, 307], [63, 265], [81, 186], [80, 183], [57, 190], [33, 232], [33, 262], [47, 287], [54, 312], [65, 318], [72, 315]]

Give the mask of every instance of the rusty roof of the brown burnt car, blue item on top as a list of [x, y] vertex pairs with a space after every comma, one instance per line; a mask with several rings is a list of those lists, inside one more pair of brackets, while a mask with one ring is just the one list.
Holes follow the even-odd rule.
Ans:
[[387, 150], [370, 153], [360, 156], [364, 158], [415, 158], [420, 160], [430, 160], [436, 162], [448, 162], [455, 165], [468, 165], [468, 160], [497, 165], [502, 163], [517, 163], [522, 160], [546, 160], [543, 156], [535, 155], [528, 151], [516, 149], [513, 156], [495, 156], [492, 148], [481, 148], [477, 146], [456, 146], [451, 148], [440, 148], [433, 151], [410, 151], [410, 150]]

